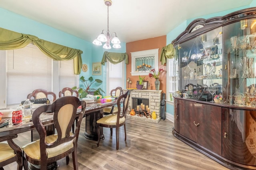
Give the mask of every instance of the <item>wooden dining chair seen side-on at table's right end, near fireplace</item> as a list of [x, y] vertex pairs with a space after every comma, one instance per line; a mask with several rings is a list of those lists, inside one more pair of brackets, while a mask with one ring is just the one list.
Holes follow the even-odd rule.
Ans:
[[[97, 121], [97, 134], [98, 134], [98, 142], [97, 146], [99, 147], [100, 143], [100, 127], [108, 127], [110, 128], [111, 136], [113, 135], [113, 128], [116, 128], [116, 150], [119, 148], [119, 127], [124, 125], [124, 141], [126, 141], [126, 111], [128, 108], [130, 98], [130, 90], [128, 90], [125, 94], [122, 94], [117, 99], [117, 108], [118, 112], [115, 115], [106, 115]], [[123, 107], [121, 107], [123, 106]]]

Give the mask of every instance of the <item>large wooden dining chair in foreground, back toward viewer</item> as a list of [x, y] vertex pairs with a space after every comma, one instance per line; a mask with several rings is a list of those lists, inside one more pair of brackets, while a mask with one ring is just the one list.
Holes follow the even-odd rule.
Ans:
[[[77, 113], [79, 106], [82, 106], [82, 109]], [[22, 147], [24, 170], [28, 170], [28, 162], [39, 165], [41, 170], [46, 170], [48, 163], [64, 157], [68, 164], [70, 153], [72, 153], [74, 169], [78, 170], [77, 140], [85, 107], [85, 101], [80, 101], [75, 96], [64, 96], [51, 105], [40, 106], [34, 111], [32, 121], [36, 130], [40, 132], [40, 139]], [[54, 112], [53, 121], [57, 131], [56, 134], [49, 136], [46, 136], [46, 130], [40, 120], [40, 115], [46, 112]], [[78, 115], [76, 129], [72, 133], [71, 127]]]

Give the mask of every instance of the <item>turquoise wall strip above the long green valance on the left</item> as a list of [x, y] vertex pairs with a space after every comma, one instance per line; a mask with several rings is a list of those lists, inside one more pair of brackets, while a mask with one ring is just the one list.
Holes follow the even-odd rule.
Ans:
[[35, 35], [40, 39], [74, 49], [80, 49], [83, 51], [83, 60], [92, 56], [92, 43], [2, 8], [0, 8], [0, 27], [19, 33]]

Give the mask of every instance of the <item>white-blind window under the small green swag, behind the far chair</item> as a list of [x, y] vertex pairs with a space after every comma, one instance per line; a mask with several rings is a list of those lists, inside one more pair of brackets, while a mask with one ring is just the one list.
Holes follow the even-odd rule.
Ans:
[[112, 64], [107, 62], [108, 74], [107, 74], [107, 88], [106, 94], [110, 95], [110, 91], [116, 87], [122, 87], [124, 89], [124, 61], [118, 64]]

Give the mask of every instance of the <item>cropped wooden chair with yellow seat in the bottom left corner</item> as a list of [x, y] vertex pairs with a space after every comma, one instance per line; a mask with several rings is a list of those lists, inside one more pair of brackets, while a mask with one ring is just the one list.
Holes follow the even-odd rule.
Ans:
[[[4, 170], [3, 166], [6, 166], [12, 162], [17, 162], [17, 170], [22, 170], [22, 150], [18, 147], [12, 139], [18, 135], [11, 135], [7, 137], [1, 137], [0, 139], [0, 170]], [[7, 143], [3, 143], [7, 141]]]

